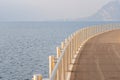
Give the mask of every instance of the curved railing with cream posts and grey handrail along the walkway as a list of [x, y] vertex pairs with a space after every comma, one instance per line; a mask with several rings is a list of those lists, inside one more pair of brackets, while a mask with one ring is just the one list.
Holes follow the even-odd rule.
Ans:
[[[57, 57], [49, 59], [49, 78], [50, 80], [69, 80], [75, 58], [77, 57], [81, 46], [90, 38], [101, 33], [120, 29], [120, 24], [102, 24], [85, 27], [77, 30], [64, 42], [57, 47]], [[55, 65], [53, 65], [53, 63]], [[38, 80], [38, 79], [36, 79]]]

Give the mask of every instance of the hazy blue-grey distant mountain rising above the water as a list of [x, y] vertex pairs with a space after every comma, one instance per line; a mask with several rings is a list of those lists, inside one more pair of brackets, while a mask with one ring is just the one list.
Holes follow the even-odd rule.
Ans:
[[78, 19], [79, 21], [120, 21], [120, 1], [115, 0], [103, 6], [92, 16]]

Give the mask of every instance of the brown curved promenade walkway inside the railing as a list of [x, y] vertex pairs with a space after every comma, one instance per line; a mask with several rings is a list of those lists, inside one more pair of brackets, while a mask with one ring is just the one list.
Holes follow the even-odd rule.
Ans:
[[71, 80], [120, 80], [120, 30], [86, 42], [77, 56]]

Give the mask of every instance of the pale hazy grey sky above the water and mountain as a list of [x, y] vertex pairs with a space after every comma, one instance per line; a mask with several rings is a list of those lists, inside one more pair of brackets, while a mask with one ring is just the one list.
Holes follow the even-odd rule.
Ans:
[[113, 0], [0, 0], [0, 21], [46, 21], [89, 16]]

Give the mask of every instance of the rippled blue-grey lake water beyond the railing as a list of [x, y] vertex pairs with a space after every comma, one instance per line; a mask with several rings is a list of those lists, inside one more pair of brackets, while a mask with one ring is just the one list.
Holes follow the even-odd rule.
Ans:
[[48, 77], [48, 56], [81, 27], [108, 22], [0, 22], [0, 80]]

